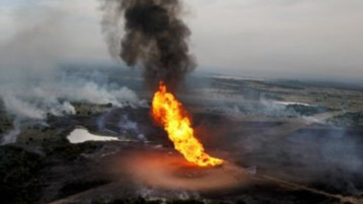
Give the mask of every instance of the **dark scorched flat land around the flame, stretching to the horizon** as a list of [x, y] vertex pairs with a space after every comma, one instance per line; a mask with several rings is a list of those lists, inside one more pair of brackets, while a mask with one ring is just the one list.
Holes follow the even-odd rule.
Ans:
[[[147, 107], [72, 102], [77, 114], [22, 121], [0, 147], [1, 203], [363, 202], [362, 90], [215, 75], [184, 87], [197, 138], [222, 166], [186, 164]], [[4, 137], [15, 117], [0, 114]], [[124, 141], [72, 144], [74, 128]]]

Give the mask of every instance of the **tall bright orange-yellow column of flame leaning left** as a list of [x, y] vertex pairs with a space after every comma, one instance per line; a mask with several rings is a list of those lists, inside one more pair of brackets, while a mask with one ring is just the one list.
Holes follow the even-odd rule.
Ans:
[[194, 137], [193, 128], [183, 105], [170, 92], [161, 81], [159, 90], [152, 99], [151, 115], [154, 120], [168, 133], [169, 139], [174, 142], [178, 150], [188, 162], [199, 166], [215, 166], [222, 164], [223, 160], [213, 158], [204, 152], [203, 145]]

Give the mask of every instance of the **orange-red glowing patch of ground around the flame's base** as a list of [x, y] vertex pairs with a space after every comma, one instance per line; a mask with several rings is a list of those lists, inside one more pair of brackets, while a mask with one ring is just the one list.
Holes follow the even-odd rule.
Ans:
[[215, 167], [199, 167], [187, 162], [178, 152], [138, 151], [118, 159], [117, 168], [126, 170], [135, 181], [148, 187], [213, 191], [249, 183], [251, 174], [225, 162]]

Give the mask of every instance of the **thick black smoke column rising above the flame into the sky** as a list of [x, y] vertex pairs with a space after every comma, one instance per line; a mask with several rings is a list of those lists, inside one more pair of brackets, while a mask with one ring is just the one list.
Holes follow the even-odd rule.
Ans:
[[[152, 88], [159, 80], [175, 88], [195, 68], [187, 44], [191, 32], [180, 19], [179, 0], [105, 0], [101, 8], [111, 56], [121, 57], [130, 67], [142, 66]], [[120, 38], [115, 35], [121, 33], [117, 28], [122, 16], [125, 32]]]

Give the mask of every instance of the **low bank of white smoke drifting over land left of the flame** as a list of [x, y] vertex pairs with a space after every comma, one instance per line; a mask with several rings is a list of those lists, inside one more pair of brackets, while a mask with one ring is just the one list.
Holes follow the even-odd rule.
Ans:
[[54, 83], [42, 83], [28, 89], [1, 86], [0, 97], [5, 109], [18, 117], [44, 119], [47, 114], [61, 116], [75, 114], [71, 102], [90, 102], [95, 104], [112, 103], [116, 107], [146, 106], [146, 101], [139, 100], [134, 91], [127, 87], [98, 85], [84, 79], [61, 80]]

